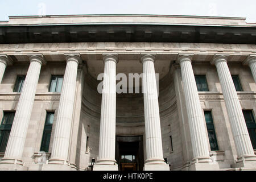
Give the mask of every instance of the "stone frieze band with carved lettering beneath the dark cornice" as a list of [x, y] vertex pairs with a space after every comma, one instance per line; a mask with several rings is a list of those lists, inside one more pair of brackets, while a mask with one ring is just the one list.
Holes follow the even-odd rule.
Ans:
[[256, 50], [252, 44], [213, 44], [213, 43], [148, 43], [148, 42], [95, 42], [95, 43], [34, 43], [34, 44], [0, 44], [2, 51], [31, 51], [31, 50], [69, 50], [69, 49], [127, 49], [127, 48], [151, 48], [151, 49], [240, 49]]

